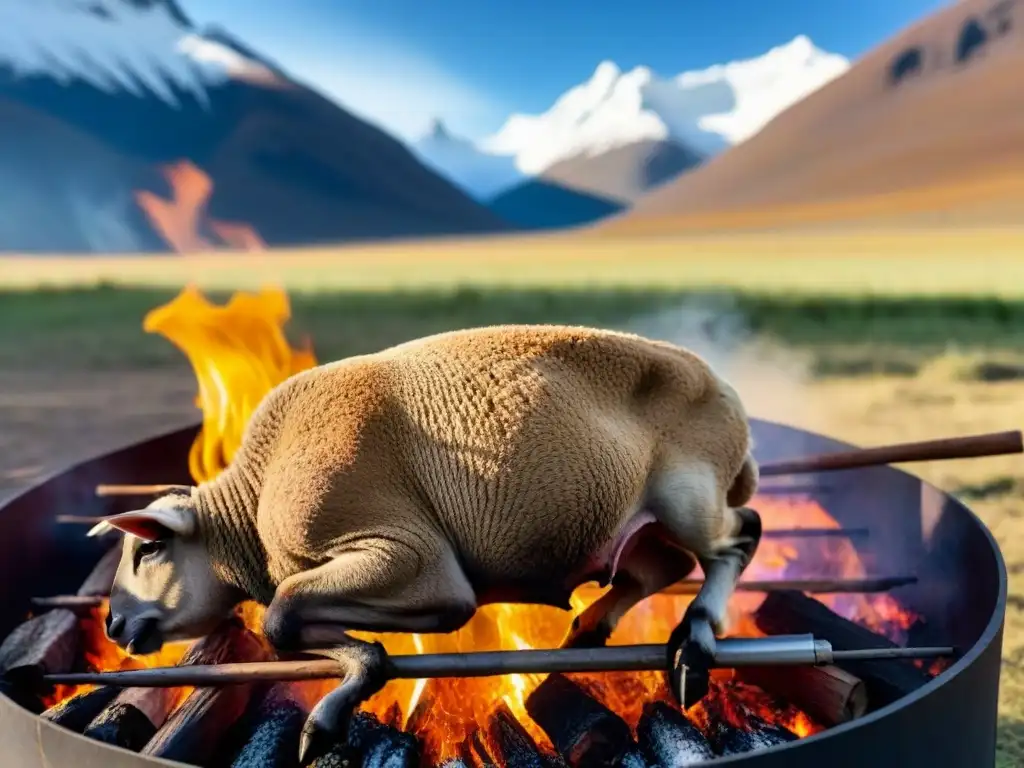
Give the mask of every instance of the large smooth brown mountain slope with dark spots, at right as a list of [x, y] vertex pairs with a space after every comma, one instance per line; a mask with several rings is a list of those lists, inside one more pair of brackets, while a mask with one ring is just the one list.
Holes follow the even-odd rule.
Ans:
[[601, 231], [1024, 213], [1024, 0], [964, 0]]

